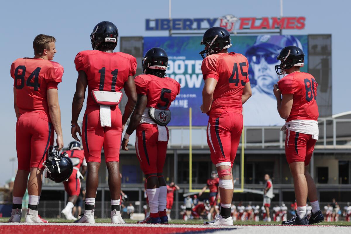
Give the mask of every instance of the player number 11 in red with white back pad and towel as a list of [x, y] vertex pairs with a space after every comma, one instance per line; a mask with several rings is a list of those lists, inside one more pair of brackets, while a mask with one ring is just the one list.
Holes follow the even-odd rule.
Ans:
[[[121, 179], [119, 151], [122, 131], [137, 101], [133, 76], [136, 59], [129, 54], [113, 52], [118, 41], [117, 27], [108, 21], [97, 24], [91, 34], [93, 50], [81, 51], [74, 59], [78, 71], [77, 88], [72, 103], [72, 129], [75, 140], [82, 135], [84, 155], [88, 165], [85, 212], [75, 222], [94, 223], [95, 195], [99, 185], [101, 148], [108, 170], [111, 193], [111, 222], [124, 223], [120, 215]], [[87, 108], [83, 119], [83, 134], [78, 125], [85, 90], [88, 87]], [[118, 104], [121, 90], [128, 97], [123, 115]]]

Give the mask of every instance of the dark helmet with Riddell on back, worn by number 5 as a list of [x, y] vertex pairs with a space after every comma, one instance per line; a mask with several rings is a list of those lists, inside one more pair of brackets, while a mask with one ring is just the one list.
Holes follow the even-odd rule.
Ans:
[[168, 55], [164, 49], [153, 47], [145, 53], [143, 58], [141, 58], [141, 64], [144, 73], [146, 72], [146, 69], [159, 69], [166, 71]]

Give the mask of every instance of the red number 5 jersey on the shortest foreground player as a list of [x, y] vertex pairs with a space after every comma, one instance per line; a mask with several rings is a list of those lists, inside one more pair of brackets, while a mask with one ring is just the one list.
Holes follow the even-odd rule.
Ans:
[[134, 79], [138, 94], [147, 96], [146, 107], [168, 110], [180, 93], [180, 84], [169, 77], [138, 75]]

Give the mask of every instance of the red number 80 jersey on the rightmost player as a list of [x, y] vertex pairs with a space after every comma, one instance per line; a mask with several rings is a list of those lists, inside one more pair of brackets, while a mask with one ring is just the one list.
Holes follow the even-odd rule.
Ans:
[[293, 94], [292, 108], [286, 122], [318, 120], [317, 82], [306, 72], [293, 72], [278, 81], [282, 94]]

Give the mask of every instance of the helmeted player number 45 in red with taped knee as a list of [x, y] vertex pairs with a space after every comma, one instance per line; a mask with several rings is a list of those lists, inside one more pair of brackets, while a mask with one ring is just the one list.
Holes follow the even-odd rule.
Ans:
[[230, 216], [234, 188], [232, 166], [243, 129], [243, 103], [252, 95], [249, 63], [242, 54], [228, 53], [232, 44], [224, 28], [207, 29], [201, 45], [205, 45], [200, 52], [204, 58], [201, 70], [205, 80], [201, 111], [210, 116], [207, 143], [218, 172], [221, 198], [220, 215], [206, 224], [233, 225]]

